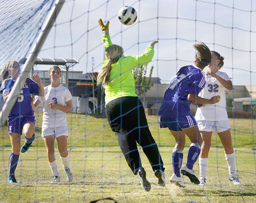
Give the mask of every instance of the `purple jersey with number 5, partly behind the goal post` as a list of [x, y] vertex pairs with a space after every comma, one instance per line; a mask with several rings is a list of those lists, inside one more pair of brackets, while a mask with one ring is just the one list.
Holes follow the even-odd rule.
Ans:
[[[3, 96], [10, 94], [14, 83], [15, 80], [12, 78], [4, 80], [0, 88], [0, 93], [2, 93]], [[19, 91], [17, 101], [8, 115], [9, 119], [20, 115], [33, 115], [34, 111], [32, 110], [31, 106], [31, 94], [39, 94], [39, 85], [30, 78], [27, 78], [25, 84], [22, 86], [22, 89]]]

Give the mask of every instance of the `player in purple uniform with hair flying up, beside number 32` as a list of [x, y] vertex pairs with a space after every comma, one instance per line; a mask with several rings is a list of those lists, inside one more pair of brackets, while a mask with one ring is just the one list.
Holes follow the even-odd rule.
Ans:
[[189, 105], [192, 102], [214, 104], [220, 99], [219, 96], [211, 99], [203, 99], [197, 96], [205, 85], [202, 70], [210, 63], [211, 53], [202, 42], [194, 44], [193, 47], [197, 50], [194, 65], [181, 67], [166, 89], [158, 111], [158, 115], [161, 116], [160, 127], [168, 127], [176, 140], [172, 154], [174, 174], [170, 181], [180, 187], [185, 187], [180, 175], [185, 134], [191, 141], [191, 145], [188, 149], [186, 166], [181, 169], [181, 173], [188, 176], [192, 183], [200, 183], [193, 171], [193, 166], [200, 154], [202, 139]]

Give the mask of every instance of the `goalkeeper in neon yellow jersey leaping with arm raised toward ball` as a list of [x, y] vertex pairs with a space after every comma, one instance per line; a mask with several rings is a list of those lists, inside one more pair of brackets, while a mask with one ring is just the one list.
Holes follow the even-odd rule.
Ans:
[[141, 55], [124, 57], [123, 48], [112, 44], [110, 40], [109, 21], [106, 25], [101, 19], [98, 22], [103, 33], [105, 58], [98, 73], [97, 85], [102, 84], [105, 88], [106, 118], [117, 136], [127, 164], [133, 173], [138, 175], [142, 187], [150, 191], [151, 184], [147, 181], [146, 172], [141, 165], [137, 143], [150, 161], [158, 184], [165, 186], [163, 161], [148, 128], [143, 105], [135, 93], [132, 74], [135, 67], [152, 60], [154, 46], [158, 41], [152, 41]]

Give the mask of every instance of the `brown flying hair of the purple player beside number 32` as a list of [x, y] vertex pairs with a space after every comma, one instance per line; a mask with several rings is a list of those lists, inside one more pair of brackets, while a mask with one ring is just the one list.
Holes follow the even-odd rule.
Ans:
[[198, 59], [195, 63], [198, 67], [203, 69], [211, 61], [211, 52], [205, 43], [200, 42], [193, 45], [197, 50], [196, 58]]

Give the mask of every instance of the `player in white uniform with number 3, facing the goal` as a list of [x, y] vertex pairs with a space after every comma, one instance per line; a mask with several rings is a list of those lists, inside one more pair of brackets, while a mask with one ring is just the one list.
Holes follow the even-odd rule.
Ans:
[[68, 152], [68, 124], [66, 112], [72, 112], [72, 95], [67, 87], [59, 84], [60, 68], [50, 67], [49, 77], [51, 84], [45, 87], [44, 97], [35, 97], [34, 109], [45, 100], [44, 114], [42, 115], [42, 138], [48, 154], [49, 165], [53, 173], [52, 183], [60, 182], [60, 173], [54, 153], [55, 138], [58, 143], [60, 160], [66, 173], [67, 180], [73, 181], [73, 174], [69, 168]]

